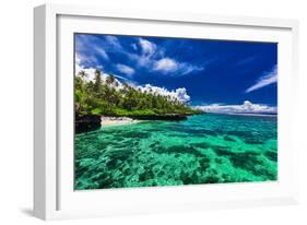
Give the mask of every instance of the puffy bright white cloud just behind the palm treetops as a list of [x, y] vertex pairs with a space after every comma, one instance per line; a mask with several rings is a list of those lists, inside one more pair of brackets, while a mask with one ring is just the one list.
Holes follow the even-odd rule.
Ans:
[[141, 92], [152, 93], [155, 95], [169, 96], [173, 100], [179, 100], [181, 103], [186, 103], [190, 100], [190, 96], [187, 93], [185, 87], [176, 88], [174, 91], [168, 91], [164, 87], [153, 86], [151, 84], [146, 84], [144, 86], [138, 86], [138, 90]]

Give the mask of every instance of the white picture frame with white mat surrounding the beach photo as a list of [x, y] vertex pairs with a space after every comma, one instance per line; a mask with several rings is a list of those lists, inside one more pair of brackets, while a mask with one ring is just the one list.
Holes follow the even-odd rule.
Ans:
[[[150, 31], [146, 28], [149, 25]], [[167, 32], [168, 26], [174, 26], [173, 33]], [[180, 33], [180, 27], [189, 29], [193, 37], [274, 40], [281, 44], [279, 180], [263, 183], [198, 185], [75, 193], [71, 187], [73, 115], [72, 107], [69, 107], [72, 106], [73, 76], [61, 75], [70, 73], [73, 68], [71, 34], [108, 29], [107, 33], [114, 34], [177, 37], [185, 35]], [[299, 150], [292, 137], [292, 119], [296, 116], [292, 98], [297, 95], [298, 82], [297, 21], [44, 4], [34, 10], [34, 28], [35, 216], [58, 220], [298, 202]], [[205, 36], [204, 28], [210, 28], [212, 36]]]

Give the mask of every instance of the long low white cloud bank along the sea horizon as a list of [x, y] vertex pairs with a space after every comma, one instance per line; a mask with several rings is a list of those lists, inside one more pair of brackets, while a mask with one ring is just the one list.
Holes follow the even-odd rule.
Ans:
[[217, 114], [276, 114], [278, 108], [262, 105], [252, 104], [249, 100], [245, 100], [243, 105], [222, 105], [222, 104], [211, 104], [206, 106], [196, 106], [201, 110], [206, 112], [217, 112]]

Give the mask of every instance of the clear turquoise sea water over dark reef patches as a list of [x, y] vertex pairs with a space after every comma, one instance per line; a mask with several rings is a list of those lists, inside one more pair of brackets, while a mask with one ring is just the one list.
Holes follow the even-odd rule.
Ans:
[[205, 114], [75, 135], [76, 190], [278, 179], [276, 117]]

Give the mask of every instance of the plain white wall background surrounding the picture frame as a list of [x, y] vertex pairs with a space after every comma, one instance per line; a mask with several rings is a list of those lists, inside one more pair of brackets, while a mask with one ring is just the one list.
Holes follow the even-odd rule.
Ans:
[[[33, 187], [33, 7], [49, 2], [10, 0], [1, 2], [0, 24], [0, 221], [1, 224], [42, 224], [31, 215]], [[101, 7], [223, 15], [290, 17], [300, 22], [300, 118], [297, 132], [307, 122], [307, 14], [299, 0], [55, 0]], [[304, 102], [305, 98], [305, 102]], [[305, 117], [304, 117], [305, 116]], [[193, 213], [167, 213], [125, 217], [51, 222], [60, 224], [306, 224], [307, 144], [300, 140], [302, 203], [296, 206], [235, 209]]]

